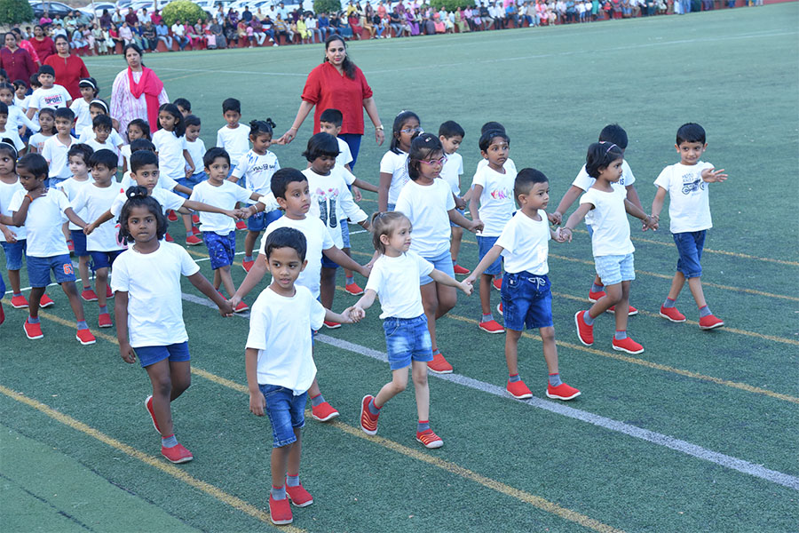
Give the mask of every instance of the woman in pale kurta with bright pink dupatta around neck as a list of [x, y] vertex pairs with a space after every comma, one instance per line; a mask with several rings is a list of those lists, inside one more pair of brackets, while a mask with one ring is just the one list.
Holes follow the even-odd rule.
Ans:
[[136, 118], [146, 120], [150, 131], [158, 129], [158, 107], [170, 101], [163, 82], [141, 62], [137, 44], [123, 49], [128, 68], [116, 75], [111, 89], [111, 116], [119, 121], [119, 132], [127, 139], [128, 123]]

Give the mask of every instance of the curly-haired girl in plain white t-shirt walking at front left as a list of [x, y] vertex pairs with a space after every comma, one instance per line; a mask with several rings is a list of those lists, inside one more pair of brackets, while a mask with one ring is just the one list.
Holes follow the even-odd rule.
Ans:
[[143, 187], [131, 187], [120, 213], [119, 234], [132, 246], [114, 262], [111, 288], [115, 293], [116, 338], [125, 362], [138, 362], [147, 371], [153, 394], [145, 407], [161, 434], [161, 454], [172, 463], [194, 456], [178, 443], [172, 427], [170, 402], [191, 383], [191, 356], [183, 323], [180, 276], [219, 307], [233, 314], [230, 304], [200, 273], [200, 267], [174, 243], [162, 243], [167, 220], [161, 205]]

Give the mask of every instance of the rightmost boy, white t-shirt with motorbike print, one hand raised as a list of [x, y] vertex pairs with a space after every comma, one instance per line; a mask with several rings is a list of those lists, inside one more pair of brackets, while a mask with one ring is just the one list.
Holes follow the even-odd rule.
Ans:
[[685, 280], [700, 312], [700, 329], [713, 330], [724, 325], [724, 321], [710, 312], [702, 291], [702, 249], [708, 229], [713, 227], [710, 219], [709, 183], [721, 183], [727, 179], [724, 169], [716, 171], [711, 163], [700, 160], [708, 148], [705, 130], [697, 123], [685, 123], [676, 134], [677, 153], [680, 162], [661, 171], [654, 184], [658, 187], [652, 203], [652, 216], [660, 219], [663, 201], [668, 193], [668, 218], [671, 235], [674, 237], [680, 258], [676, 274], [671, 281], [666, 301], [661, 306], [661, 316], [671, 322], [685, 322], [685, 315], [674, 306]]

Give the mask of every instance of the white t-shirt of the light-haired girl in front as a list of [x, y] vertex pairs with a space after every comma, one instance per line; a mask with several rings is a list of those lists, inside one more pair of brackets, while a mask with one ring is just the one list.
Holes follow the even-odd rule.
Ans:
[[433, 266], [413, 251], [399, 257], [382, 255], [375, 261], [366, 289], [380, 297], [380, 318], [416, 318], [424, 314], [419, 278], [430, 274]]

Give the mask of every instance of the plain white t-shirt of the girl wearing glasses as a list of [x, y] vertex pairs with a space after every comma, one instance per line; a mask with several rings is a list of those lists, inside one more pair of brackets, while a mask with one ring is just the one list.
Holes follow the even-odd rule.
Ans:
[[455, 199], [446, 181], [433, 179], [431, 185], [408, 181], [394, 209], [411, 221], [411, 251], [423, 258], [435, 258], [449, 250], [452, 229], [447, 211], [455, 209]]

